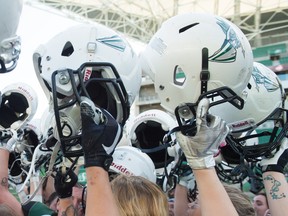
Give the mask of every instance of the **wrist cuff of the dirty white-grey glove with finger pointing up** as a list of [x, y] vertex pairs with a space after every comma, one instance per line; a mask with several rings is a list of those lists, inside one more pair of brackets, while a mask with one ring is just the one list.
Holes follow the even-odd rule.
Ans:
[[206, 157], [190, 157], [187, 158], [189, 166], [193, 169], [209, 169], [215, 166], [215, 160], [213, 155]]

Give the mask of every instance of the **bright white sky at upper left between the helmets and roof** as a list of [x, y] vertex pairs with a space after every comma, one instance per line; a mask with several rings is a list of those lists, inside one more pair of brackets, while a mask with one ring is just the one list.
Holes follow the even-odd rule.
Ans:
[[[36, 91], [39, 101], [35, 118], [41, 118], [47, 107], [47, 100], [34, 72], [33, 52], [40, 44], [45, 44], [54, 35], [79, 23], [80, 21], [60, 15], [54, 9], [49, 8], [48, 10], [46, 6], [34, 7], [27, 4], [23, 6], [17, 33], [21, 36], [22, 41], [20, 58], [15, 70], [0, 75], [0, 91], [15, 82], [25, 82], [30, 85]], [[131, 45], [135, 48], [136, 53], [143, 48], [143, 44], [138, 42], [133, 41]]]

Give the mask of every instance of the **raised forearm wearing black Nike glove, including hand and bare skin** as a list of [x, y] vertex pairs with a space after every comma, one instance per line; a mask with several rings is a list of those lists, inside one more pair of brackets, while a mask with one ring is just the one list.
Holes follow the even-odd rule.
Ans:
[[87, 175], [86, 216], [119, 215], [108, 178], [112, 153], [121, 139], [122, 129], [104, 109], [97, 109], [88, 98], [80, 104], [82, 148]]

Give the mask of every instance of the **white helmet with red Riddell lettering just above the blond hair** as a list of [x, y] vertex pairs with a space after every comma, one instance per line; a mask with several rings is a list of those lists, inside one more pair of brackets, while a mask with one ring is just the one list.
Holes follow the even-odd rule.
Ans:
[[113, 153], [113, 162], [109, 168], [115, 173], [142, 176], [156, 183], [155, 166], [151, 158], [133, 146], [117, 146]]

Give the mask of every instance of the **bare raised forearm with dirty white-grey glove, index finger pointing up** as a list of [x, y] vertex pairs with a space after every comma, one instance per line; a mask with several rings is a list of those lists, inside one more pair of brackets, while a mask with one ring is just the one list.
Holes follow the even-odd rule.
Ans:
[[227, 135], [228, 127], [219, 117], [208, 115], [208, 107], [208, 99], [199, 102], [196, 134], [177, 132], [177, 141], [197, 182], [201, 215], [238, 215], [214, 169], [214, 154]]

